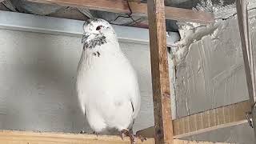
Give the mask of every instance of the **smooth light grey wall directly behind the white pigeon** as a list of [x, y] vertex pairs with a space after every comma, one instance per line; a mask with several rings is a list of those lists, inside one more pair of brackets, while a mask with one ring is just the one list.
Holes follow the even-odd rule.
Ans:
[[[136, 131], [154, 125], [150, 51], [120, 44], [139, 78]], [[0, 129], [90, 132], [74, 87], [81, 52], [81, 38], [0, 29]]]

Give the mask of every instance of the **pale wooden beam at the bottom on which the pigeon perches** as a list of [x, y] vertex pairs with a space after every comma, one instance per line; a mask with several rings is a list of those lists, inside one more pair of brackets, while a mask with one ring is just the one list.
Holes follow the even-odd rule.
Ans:
[[[8, 144], [127, 144], [130, 143], [129, 138], [124, 141], [118, 136], [106, 136], [91, 134], [69, 134], [69, 133], [39, 133], [31, 131], [0, 131], [0, 143]], [[154, 144], [154, 138], [147, 138], [144, 142], [136, 142], [138, 144]], [[174, 144], [214, 144], [214, 142], [195, 142], [174, 140]], [[220, 143], [222, 144], [222, 143]], [[224, 143], [223, 143], [224, 144]]]

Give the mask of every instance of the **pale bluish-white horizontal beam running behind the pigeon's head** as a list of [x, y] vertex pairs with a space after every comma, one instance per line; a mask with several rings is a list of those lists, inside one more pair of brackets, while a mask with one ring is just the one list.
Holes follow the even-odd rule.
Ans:
[[[61, 34], [67, 36], [82, 37], [83, 21], [42, 17], [34, 14], [15, 13], [0, 10], [0, 28], [8, 30], [30, 31], [45, 34]], [[149, 30], [130, 26], [112, 25], [119, 42], [135, 42], [148, 44], [150, 41]], [[139, 34], [138, 34], [139, 32]], [[167, 46], [172, 46], [178, 41], [178, 33], [170, 32], [167, 37]], [[146, 47], [146, 50], [148, 47]]]

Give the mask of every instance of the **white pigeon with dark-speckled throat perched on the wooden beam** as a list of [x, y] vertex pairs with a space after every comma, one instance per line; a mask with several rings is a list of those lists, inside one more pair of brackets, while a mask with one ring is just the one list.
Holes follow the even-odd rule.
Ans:
[[122, 137], [135, 138], [131, 129], [141, 99], [134, 68], [122, 53], [110, 23], [89, 19], [83, 29], [77, 92], [87, 122], [96, 134], [114, 129]]

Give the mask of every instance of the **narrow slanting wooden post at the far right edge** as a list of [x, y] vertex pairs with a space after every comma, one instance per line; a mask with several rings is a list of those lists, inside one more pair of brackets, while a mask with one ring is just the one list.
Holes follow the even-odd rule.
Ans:
[[248, 94], [250, 98], [251, 114], [254, 125], [254, 138], [256, 138], [256, 71], [254, 63], [253, 48], [251, 46], [250, 39], [250, 26], [248, 22], [248, 11], [246, 0], [236, 1], [238, 10], [238, 26], [240, 31], [241, 43], [242, 43], [242, 54], [246, 71], [246, 82], [248, 88]]

